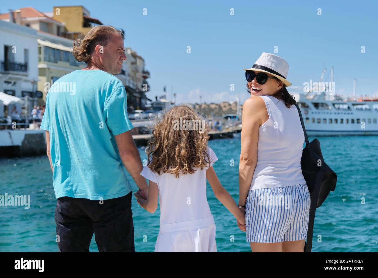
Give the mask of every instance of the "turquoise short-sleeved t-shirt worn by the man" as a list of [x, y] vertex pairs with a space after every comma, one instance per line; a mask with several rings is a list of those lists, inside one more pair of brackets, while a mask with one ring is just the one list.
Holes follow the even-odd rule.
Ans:
[[76, 70], [46, 95], [41, 129], [49, 130], [56, 198], [113, 199], [132, 191], [114, 135], [134, 126], [125, 87], [102, 70]]

